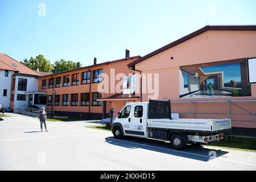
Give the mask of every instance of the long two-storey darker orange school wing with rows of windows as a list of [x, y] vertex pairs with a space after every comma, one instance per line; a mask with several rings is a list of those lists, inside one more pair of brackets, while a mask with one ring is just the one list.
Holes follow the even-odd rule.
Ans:
[[[80, 68], [78, 63], [77, 69], [39, 77], [38, 91], [46, 93], [47, 110], [54, 110], [56, 115], [86, 119], [108, 117], [112, 103], [97, 99], [118, 93], [115, 89], [104, 92], [104, 86], [110, 88], [111, 85], [117, 85], [118, 80], [133, 72], [127, 64], [140, 58], [140, 56], [130, 57], [129, 50], [125, 53], [123, 59], [97, 64], [97, 59], [94, 58], [93, 65]], [[122, 73], [122, 76], [115, 80], [115, 77], [110, 78], [110, 72], [114, 72], [114, 76]], [[101, 89], [99, 85], [104, 82], [104, 75], [108, 75], [109, 79]]]

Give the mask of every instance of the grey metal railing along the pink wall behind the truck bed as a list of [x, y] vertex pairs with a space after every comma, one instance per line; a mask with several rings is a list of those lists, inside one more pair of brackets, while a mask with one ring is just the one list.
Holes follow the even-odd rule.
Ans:
[[[226, 103], [227, 104], [227, 110], [225, 113], [213, 113], [213, 112], [208, 112], [208, 113], [200, 113], [196, 112], [196, 104], [197, 103]], [[172, 104], [190, 104], [190, 109], [188, 112], [179, 112], [179, 114], [190, 114], [190, 118], [195, 118], [196, 114], [209, 114], [209, 115], [226, 115], [227, 118], [232, 118], [232, 115], [251, 115], [254, 116], [255, 119], [254, 121], [245, 121], [245, 122], [256, 122], [256, 113], [253, 113], [253, 111], [249, 111], [243, 106], [238, 105], [237, 103], [241, 102], [256, 102], [256, 100], [228, 100], [228, 101], [172, 101]], [[232, 113], [231, 106], [235, 106], [239, 108], [240, 110], [244, 111], [245, 113]], [[255, 103], [255, 108], [256, 108], [256, 103]], [[234, 120], [233, 120], [234, 121]], [[241, 121], [241, 120], [239, 120]]]

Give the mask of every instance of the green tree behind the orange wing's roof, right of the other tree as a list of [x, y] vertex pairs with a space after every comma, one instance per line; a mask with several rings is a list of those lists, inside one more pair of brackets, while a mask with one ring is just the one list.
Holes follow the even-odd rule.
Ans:
[[58, 72], [63, 72], [63, 71], [68, 71], [71, 69], [76, 69], [77, 68], [77, 63], [74, 61], [66, 61], [64, 59], [57, 60], [53, 64], [53, 73], [58, 73]]

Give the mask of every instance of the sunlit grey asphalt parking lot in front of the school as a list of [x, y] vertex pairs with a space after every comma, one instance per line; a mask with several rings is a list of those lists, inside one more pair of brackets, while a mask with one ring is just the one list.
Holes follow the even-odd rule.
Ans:
[[0, 122], [0, 170], [255, 170], [256, 153], [125, 138], [88, 129], [97, 121], [47, 122], [11, 114]]

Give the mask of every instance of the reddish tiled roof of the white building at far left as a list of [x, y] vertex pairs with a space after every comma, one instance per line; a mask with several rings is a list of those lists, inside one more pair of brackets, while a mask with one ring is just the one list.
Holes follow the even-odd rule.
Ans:
[[40, 76], [34, 70], [26, 67], [22, 63], [19, 63], [19, 61], [16, 61], [5, 53], [0, 53], [0, 69], [19, 72], [24, 75]]

